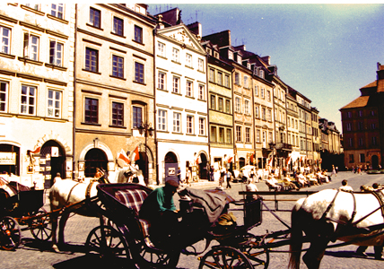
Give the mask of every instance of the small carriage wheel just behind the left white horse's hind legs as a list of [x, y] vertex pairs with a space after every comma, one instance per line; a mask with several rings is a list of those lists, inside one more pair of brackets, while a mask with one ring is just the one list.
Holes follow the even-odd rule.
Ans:
[[44, 211], [35, 214], [36, 219], [30, 223], [30, 230], [35, 239], [47, 241], [52, 236], [52, 223], [50, 216]]

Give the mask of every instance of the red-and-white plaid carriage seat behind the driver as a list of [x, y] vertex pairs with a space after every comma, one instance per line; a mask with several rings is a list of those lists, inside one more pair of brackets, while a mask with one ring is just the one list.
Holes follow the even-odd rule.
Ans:
[[149, 228], [151, 223], [144, 219], [139, 219], [139, 212], [142, 204], [144, 203], [147, 193], [142, 189], [125, 189], [118, 190], [115, 193], [115, 197], [123, 204], [135, 212], [135, 217], [141, 224], [141, 230], [143, 231], [144, 241], [148, 247], [154, 247], [153, 243], [149, 239]]

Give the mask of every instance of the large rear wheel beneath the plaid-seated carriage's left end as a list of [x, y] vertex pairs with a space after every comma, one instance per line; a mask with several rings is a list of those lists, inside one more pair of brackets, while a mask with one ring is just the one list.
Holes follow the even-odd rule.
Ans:
[[126, 239], [110, 226], [94, 228], [88, 235], [85, 247], [88, 255], [99, 256], [109, 267], [127, 266], [127, 259], [130, 259]]

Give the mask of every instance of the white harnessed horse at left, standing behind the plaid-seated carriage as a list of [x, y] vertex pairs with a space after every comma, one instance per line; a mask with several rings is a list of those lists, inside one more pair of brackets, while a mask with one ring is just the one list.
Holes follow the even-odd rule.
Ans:
[[[119, 169], [113, 182], [127, 182], [127, 178], [135, 173], [140, 174], [133, 166]], [[143, 178], [143, 175], [141, 177]], [[101, 171], [100, 169], [98, 169], [95, 178], [97, 179], [90, 180], [90, 183], [78, 182], [72, 179], [61, 179], [57, 180], [57, 182], [50, 188], [49, 200], [52, 212], [52, 248], [54, 251], [58, 251], [57, 245], [65, 245], [64, 230], [70, 213], [78, 213], [89, 217], [100, 217], [94, 210], [90, 210], [90, 208], [84, 206], [83, 203], [79, 203], [87, 198], [96, 196], [96, 186], [98, 184], [110, 183], [107, 172]], [[111, 178], [113, 178], [113, 176]], [[142, 180], [139, 179], [139, 181], [143, 181], [142, 184], [145, 185], [144, 178]], [[79, 203], [79, 206], [70, 206], [76, 203]], [[59, 215], [61, 215], [61, 218], [59, 221], [57, 242], [57, 220]], [[102, 220], [100, 219], [100, 221]]]

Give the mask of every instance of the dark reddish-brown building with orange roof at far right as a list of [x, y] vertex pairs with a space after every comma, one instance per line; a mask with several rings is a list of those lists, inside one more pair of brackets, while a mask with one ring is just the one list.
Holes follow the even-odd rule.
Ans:
[[340, 108], [345, 166], [383, 167], [384, 65], [378, 63], [377, 79], [360, 89], [361, 96]]

